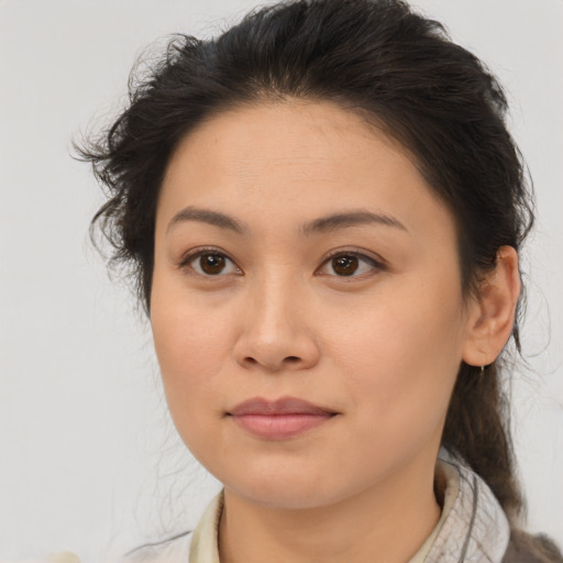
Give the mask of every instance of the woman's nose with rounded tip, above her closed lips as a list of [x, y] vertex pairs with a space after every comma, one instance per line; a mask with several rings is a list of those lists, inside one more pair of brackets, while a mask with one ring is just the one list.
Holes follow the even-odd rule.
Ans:
[[235, 361], [245, 368], [273, 373], [314, 366], [319, 346], [305, 300], [299, 290], [279, 279], [249, 287], [233, 350]]

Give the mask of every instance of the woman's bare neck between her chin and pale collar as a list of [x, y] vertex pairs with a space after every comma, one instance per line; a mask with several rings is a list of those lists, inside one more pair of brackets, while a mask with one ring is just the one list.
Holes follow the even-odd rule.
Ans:
[[360, 494], [306, 509], [264, 507], [225, 488], [221, 563], [404, 563], [440, 518], [433, 465], [405, 467]]

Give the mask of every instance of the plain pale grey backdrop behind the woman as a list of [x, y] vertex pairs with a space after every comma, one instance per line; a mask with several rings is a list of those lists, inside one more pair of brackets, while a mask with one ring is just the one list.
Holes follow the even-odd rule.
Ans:
[[[534, 179], [514, 422], [529, 526], [563, 544], [563, 2], [416, 4], [500, 77]], [[69, 153], [122, 106], [150, 43], [209, 36], [251, 5], [0, 1], [2, 563], [63, 550], [106, 561], [192, 528], [218, 489], [175, 438], [147, 322], [88, 242], [102, 195]]]

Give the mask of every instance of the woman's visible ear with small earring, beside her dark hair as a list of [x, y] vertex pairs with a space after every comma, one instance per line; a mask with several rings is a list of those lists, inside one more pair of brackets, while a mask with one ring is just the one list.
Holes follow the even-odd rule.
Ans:
[[518, 254], [512, 246], [501, 246], [495, 269], [485, 275], [470, 306], [466, 364], [488, 365], [500, 354], [512, 332], [520, 289]]

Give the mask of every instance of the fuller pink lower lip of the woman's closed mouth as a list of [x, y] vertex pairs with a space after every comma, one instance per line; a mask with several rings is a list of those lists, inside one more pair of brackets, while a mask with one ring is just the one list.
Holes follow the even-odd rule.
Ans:
[[233, 421], [258, 438], [285, 440], [321, 426], [333, 415], [240, 415]]

